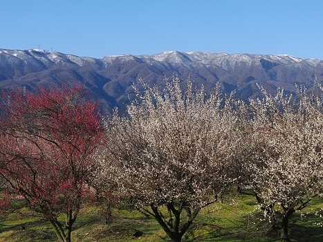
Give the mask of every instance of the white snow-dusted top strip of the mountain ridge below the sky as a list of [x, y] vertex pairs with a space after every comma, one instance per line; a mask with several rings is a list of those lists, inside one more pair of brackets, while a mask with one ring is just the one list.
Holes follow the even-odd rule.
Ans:
[[[156, 64], [162, 62], [167, 64], [201, 64], [206, 66], [219, 66], [226, 71], [232, 71], [237, 66], [250, 66], [252, 63], [260, 65], [260, 60], [265, 59], [268, 62], [277, 64], [297, 64], [306, 63], [310, 66], [316, 66], [322, 61], [319, 59], [301, 59], [291, 55], [255, 55], [255, 54], [228, 54], [228, 53], [210, 53], [210, 52], [181, 52], [166, 51], [154, 55], [111, 55], [95, 59], [91, 57], [78, 57], [76, 55], [63, 54], [48, 50], [30, 49], [30, 50], [4, 50], [0, 49], [0, 55], [10, 55], [17, 57], [24, 62], [35, 58], [38, 61], [48, 65], [58, 64], [59, 62], [77, 64], [83, 66], [86, 63], [102, 62], [105, 66], [113, 62], [139, 61], [147, 64]], [[13, 60], [12, 60], [13, 61]]]

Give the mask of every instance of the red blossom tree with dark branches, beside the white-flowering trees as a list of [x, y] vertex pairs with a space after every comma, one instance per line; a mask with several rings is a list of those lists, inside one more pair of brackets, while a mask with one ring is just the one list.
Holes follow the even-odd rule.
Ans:
[[80, 206], [92, 194], [88, 181], [102, 143], [98, 105], [86, 93], [85, 86], [64, 85], [1, 95], [0, 176], [8, 192], [53, 225], [59, 241], [71, 241]]

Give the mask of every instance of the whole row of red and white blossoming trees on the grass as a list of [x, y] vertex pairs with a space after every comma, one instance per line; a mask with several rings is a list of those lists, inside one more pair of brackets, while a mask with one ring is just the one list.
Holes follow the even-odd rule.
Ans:
[[[176, 79], [163, 91], [143, 89], [124, 118], [116, 111], [104, 127], [84, 86], [3, 92], [3, 192], [23, 196], [60, 241], [71, 241], [93, 187], [104, 198], [129, 199], [181, 241], [201, 209], [239, 181], [280, 239], [290, 241], [290, 216], [322, 194], [322, 100], [302, 89], [296, 98], [263, 90], [263, 100], [246, 104], [223, 100], [219, 86], [206, 95], [188, 82], [183, 92]], [[5, 209], [8, 202], [0, 199]]]

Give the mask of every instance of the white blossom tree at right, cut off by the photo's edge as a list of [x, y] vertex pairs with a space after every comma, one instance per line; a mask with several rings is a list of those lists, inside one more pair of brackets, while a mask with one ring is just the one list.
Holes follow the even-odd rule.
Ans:
[[240, 171], [282, 241], [288, 219], [322, 192], [323, 113], [320, 98], [266, 91], [242, 109]]

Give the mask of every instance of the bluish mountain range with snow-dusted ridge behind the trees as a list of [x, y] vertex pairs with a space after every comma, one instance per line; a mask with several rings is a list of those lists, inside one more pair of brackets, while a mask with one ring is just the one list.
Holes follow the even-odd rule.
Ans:
[[323, 82], [323, 61], [290, 55], [179, 51], [96, 59], [40, 49], [0, 49], [0, 89], [24, 86], [31, 90], [39, 84], [86, 81], [106, 112], [114, 106], [124, 109], [135, 97], [132, 86], [139, 85], [138, 80], [163, 86], [165, 78], [174, 76], [183, 86], [190, 79], [207, 91], [220, 82], [224, 92], [233, 91], [237, 97], [248, 100], [260, 95], [257, 84], [271, 93], [277, 88], [294, 93], [295, 84], [313, 90], [315, 82]]

